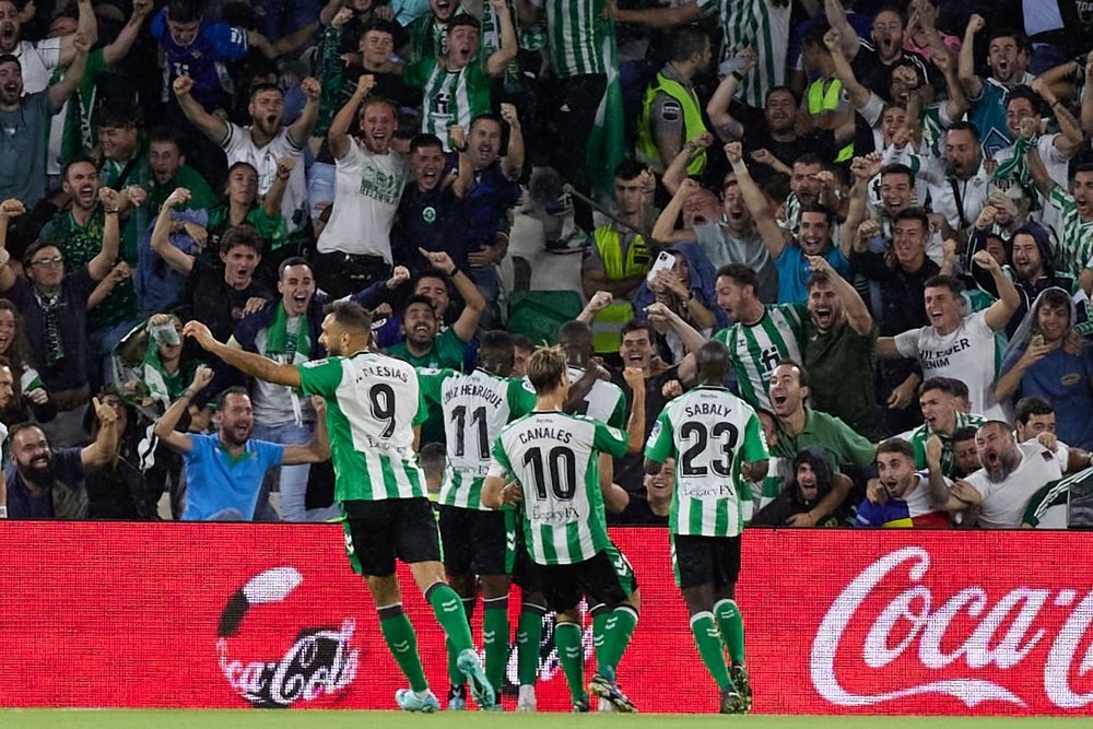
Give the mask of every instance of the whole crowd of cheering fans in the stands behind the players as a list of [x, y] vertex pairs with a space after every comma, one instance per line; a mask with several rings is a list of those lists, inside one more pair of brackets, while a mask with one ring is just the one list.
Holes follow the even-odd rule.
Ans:
[[[1066, 527], [1086, 5], [0, 0], [0, 504], [329, 518], [322, 403], [184, 326], [304, 363], [350, 297], [391, 356], [469, 371], [528, 285], [498, 266], [525, 216], [527, 264], [579, 261], [569, 407], [631, 428], [619, 522], [665, 522], [642, 447], [715, 338], [775, 457], [752, 524]], [[513, 333], [520, 377], [541, 342]]]

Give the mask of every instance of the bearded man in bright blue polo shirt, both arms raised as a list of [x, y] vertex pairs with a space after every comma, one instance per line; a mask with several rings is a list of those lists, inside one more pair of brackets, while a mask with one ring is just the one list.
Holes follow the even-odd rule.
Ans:
[[186, 463], [184, 521], [250, 521], [266, 471], [330, 458], [326, 408], [313, 400], [318, 415], [310, 443], [283, 446], [250, 437], [255, 426], [250, 396], [245, 388], [230, 387], [218, 400], [215, 433], [179, 433], [175, 430], [179, 419], [212, 378], [211, 368], [198, 367], [190, 386], [156, 422], [155, 435]]

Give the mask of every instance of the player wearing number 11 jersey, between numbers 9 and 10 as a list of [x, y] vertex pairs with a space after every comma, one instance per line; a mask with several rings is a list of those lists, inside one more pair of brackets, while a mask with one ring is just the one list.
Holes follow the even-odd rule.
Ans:
[[[502, 684], [508, 661], [508, 588], [516, 557], [516, 514], [486, 508], [481, 491], [490, 470], [490, 444], [506, 423], [536, 407], [531, 387], [508, 377], [514, 357], [512, 334], [487, 331], [479, 346], [478, 367], [469, 375], [455, 369], [419, 372], [425, 400], [444, 412], [448, 456], [439, 498], [444, 567], [468, 619], [474, 609], [474, 576], [481, 578], [485, 674], [495, 686]], [[448, 708], [461, 709], [466, 706], [463, 677], [450, 647]], [[533, 677], [529, 683], [534, 683]]]

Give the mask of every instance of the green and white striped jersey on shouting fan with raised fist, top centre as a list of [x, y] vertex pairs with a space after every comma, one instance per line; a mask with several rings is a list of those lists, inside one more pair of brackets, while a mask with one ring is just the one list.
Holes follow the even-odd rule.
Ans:
[[451, 151], [448, 127], [460, 125], [470, 130], [471, 121], [490, 110], [493, 81], [482, 68], [482, 55], [458, 71], [447, 71], [439, 59], [427, 58], [407, 67], [402, 80], [412, 89], [422, 90], [421, 130], [436, 134]]

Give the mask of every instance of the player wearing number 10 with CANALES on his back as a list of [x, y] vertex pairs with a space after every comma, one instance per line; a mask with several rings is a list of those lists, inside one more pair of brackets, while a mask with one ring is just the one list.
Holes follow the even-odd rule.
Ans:
[[[589, 691], [620, 712], [635, 712], [615, 682], [615, 669], [637, 625], [634, 571], [608, 538], [604, 503], [625, 503], [625, 492], [601, 479], [600, 451], [626, 452], [626, 434], [581, 415], [562, 412], [569, 374], [561, 346], [541, 348], [528, 360], [536, 409], [501, 432], [493, 447], [482, 503], [497, 508], [521, 503], [525, 542], [541, 565], [543, 595], [556, 611], [554, 642], [573, 696], [573, 710], [588, 710], [580, 643], [581, 593], [603, 603], [603, 648]], [[515, 477], [516, 482], [509, 483]]]

